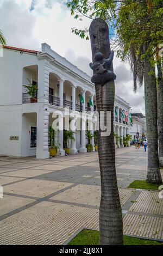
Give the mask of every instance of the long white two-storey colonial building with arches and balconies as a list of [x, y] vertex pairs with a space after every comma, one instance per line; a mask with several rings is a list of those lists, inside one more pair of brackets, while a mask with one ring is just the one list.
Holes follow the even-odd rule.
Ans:
[[[53, 123], [54, 111], [64, 115], [67, 107], [84, 113], [96, 110], [95, 87], [90, 76], [47, 44], [42, 44], [41, 52], [4, 46], [0, 73], [0, 155], [36, 155], [45, 159], [49, 157], [48, 126]], [[24, 87], [29, 82], [37, 84], [36, 102]], [[84, 103], [80, 103], [80, 95]], [[120, 136], [129, 133], [129, 109], [129, 103], [116, 96], [114, 130]], [[85, 130], [76, 131], [74, 137], [70, 153], [86, 153]], [[58, 132], [57, 141], [58, 154], [65, 155], [63, 131]], [[91, 143], [94, 144], [93, 139]]]

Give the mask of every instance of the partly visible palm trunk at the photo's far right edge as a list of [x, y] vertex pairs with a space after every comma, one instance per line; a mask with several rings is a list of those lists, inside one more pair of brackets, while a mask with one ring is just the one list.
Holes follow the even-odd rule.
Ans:
[[158, 129], [159, 129], [159, 163], [163, 166], [163, 76], [161, 63], [158, 68]]

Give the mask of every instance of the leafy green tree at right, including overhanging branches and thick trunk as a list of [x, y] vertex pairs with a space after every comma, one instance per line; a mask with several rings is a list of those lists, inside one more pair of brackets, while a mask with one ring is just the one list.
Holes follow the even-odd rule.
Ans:
[[[117, 49], [118, 57], [130, 63], [134, 76], [134, 92], [137, 90], [137, 84], [142, 86], [144, 81], [148, 135], [147, 182], [161, 183], [157, 121], [159, 118], [161, 164], [163, 156], [163, 89], [162, 82], [160, 82], [157, 106], [155, 65], [158, 64], [156, 48], [162, 44], [163, 40], [162, 0], [81, 0], [71, 1], [68, 4], [69, 7], [71, 6], [71, 13], [77, 13], [76, 19], [81, 20], [82, 16], [88, 16], [90, 19], [101, 17], [114, 26], [117, 32], [117, 35], [112, 39], [114, 48]], [[81, 38], [89, 39], [86, 36], [87, 29], [78, 30], [73, 28], [72, 32], [78, 34]], [[162, 76], [159, 75], [159, 77]]]

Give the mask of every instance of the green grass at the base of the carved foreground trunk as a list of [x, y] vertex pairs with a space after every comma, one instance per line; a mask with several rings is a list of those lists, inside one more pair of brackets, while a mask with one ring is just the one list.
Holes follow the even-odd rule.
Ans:
[[[124, 245], [163, 245], [163, 243], [139, 239], [131, 236], [123, 236]], [[83, 229], [68, 245], [99, 245], [99, 231]]]

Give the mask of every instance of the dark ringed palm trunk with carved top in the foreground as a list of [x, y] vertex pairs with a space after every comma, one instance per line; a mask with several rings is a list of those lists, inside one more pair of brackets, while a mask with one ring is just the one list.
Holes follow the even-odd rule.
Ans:
[[[92, 58], [97, 52], [103, 53], [104, 58], [109, 58], [109, 28], [105, 21], [99, 18], [92, 21], [90, 26], [90, 38]], [[97, 132], [102, 190], [101, 204], [99, 208], [100, 244], [122, 245], [122, 210], [117, 187], [113, 129], [115, 84], [114, 81], [109, 81], [105, 83], [104, 86], [99, 83], [95, 83], [95, 88], [99, 117], [101, 111], [111, 112], [111, 134], [109, 136], [102, 137], [102, 131], [99, 129]]]

